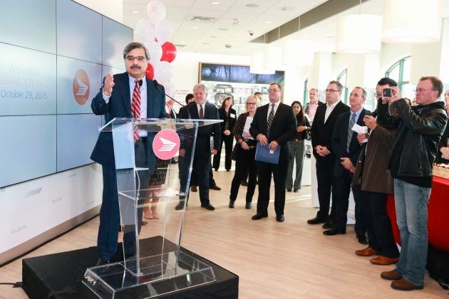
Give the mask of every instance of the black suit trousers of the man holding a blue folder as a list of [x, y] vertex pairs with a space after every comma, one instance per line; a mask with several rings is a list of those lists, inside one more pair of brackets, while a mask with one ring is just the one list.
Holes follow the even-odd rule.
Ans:
[[287, 178], [288, 160], [279, 164], [256, 162], [257, 177], [259, 178], [259, 196], [257, 197], [257, 213], [268, 215], [269, 188], [274, 179], [274, 211], [277, 216], [284, 215], [285, 206], [285, 180]]

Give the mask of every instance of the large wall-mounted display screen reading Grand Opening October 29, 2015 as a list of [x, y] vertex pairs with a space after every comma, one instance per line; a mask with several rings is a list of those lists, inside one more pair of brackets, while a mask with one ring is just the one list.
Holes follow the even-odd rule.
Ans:
[[[11, 26], [19, 23], [20, 26]], [[0, 188], [92, 163], [106, 71], [124, 71], [133, 30], [71, 0], [0, 10]]]

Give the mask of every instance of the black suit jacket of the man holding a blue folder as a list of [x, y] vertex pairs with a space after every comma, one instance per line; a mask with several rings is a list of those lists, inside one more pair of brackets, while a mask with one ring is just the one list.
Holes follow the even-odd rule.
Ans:
[[[254, 119], [252, 120], [249, 133], [256, 138], [257, 135], [262, 134], [267, 136], [267, 118], [268, 108], [271, 103], [258, 107]], [[294, 137], [296, 133], [296, 117], [289, 105], [279, 103], [276, 114], [274, 115], [272, 127], [270, 128], [268, 143], [276, 140], [281, 146], [279, 160], [290, 159], [289, 147], [287, 142]]]

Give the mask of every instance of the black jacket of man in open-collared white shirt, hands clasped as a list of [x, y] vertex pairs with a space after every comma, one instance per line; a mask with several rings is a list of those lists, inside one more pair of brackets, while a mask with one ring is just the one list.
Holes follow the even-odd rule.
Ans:
[[[333, 169], [335, 154], [331, 144], [332, 132], [334, 132], [334, 125], [337, 117], [341, 113], [349, 111], [349, 106], [340, 101], [334, 107], [334, 110], [332, 110], [331, 115], [329, 115], [326, 123], [324, 123], [326, 109], [327, 105], [320, 105], [316, 108], [314, 121], [312, 122], [311, 126], [311, 143], [314, 149], [314, 156], [316, 158], [316, 166], [321, 169]], [[326, 157], [321, 157], [316, 153], [316, 145], [327, 147], [331, 154], [328, 154]]]

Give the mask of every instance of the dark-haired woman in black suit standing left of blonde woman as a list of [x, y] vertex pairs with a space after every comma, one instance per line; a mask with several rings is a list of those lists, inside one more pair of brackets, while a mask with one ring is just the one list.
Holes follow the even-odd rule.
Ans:
[[232, 153], [232, 143], [234, 141], [234, 134], [232, 134], [232, 130], [234, 130], [235, 125], [235, 110], [232, 109], [232, 98], [226, 97], [222, 102], [222, 107], [218, 109], [218, 115], [220, 116], [220, 128], [222, 130], [222, 138], [220, 141], [220, 147], [218, 148], [217, 154], [214, 156], [214, 162], [212, 163], [212, 168], [215, 171], [220, 167], [220, 155], [222, 153], [223, 142], [226, 147], [226, 153], [224, 156], [224, 168], [229, 172], [231, 169], [231, 153]]

